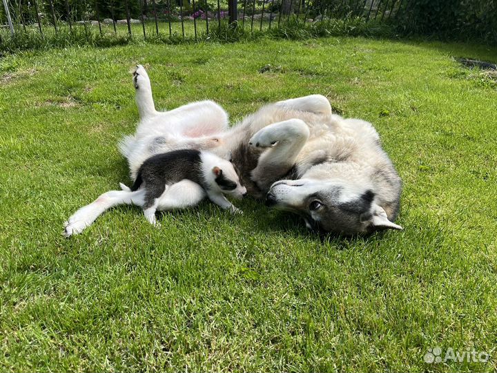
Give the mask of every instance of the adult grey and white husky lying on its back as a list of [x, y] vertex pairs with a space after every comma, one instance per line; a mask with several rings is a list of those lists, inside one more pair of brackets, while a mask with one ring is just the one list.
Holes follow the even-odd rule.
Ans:
[[[133, 83], [140, 120], [135, 135], [119, 144], [132, 180], [151, 155], [208, 150], [231, 158], [249, 194], [298, 213], [310, 229], [344, 234], [402, 229], [393, 222], [401, 182], [378, 133], [368, 122], [333, 115], [326, 97], [276, 102], [230, 128], [228, 115], [212, 101], [156, 111], [143, 66], [137, 66]], [[193, 182], [176, 185], [161, 196], [160, 209], [181, 209], [204, 198]], [[65, 235], [83, 231], [110, 207], [141, 202], [129, 193], [100, 195], [68, 219]]]

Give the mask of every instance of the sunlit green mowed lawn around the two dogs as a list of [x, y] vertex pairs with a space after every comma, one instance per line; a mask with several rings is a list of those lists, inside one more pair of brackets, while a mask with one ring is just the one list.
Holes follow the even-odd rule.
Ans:
[[[0, 371], [493, 372], [497, 78], [454, 57], [497, 49], [329, 38], [3, 58]], [[116, 144], [138, 118], [135, 64], [160, 108], [214, 99], [235, 122], [321, 93], [373, 122], [405, 231], [318, 238], [246, 198], [243, 216], [204, 202], [160, 229], [119, 207], [64, 238], [68, 216], [130, 182]], [[425, 363], [431, 347], [491, 359]]]

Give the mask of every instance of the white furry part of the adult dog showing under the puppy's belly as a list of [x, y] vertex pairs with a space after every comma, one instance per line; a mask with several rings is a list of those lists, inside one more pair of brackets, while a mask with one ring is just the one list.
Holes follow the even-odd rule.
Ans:
[[199, 184], [191, 180], [182, 180], [170, 185], [162, 195], [157, 198], [157, 210], [170, 211], [175, 209], [186, 209], [199, 204], [206, 193]]

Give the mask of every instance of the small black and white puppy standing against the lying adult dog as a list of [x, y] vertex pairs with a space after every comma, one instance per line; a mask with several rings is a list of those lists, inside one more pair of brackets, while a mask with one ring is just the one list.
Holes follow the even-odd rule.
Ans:
[[[233, 164], [206, 151], [182, 149], [153, 155], [140, 166], [133, 187], [129, 189], [121, 184], [121, 189], [144, 191], [142, 209], [146, 219], [151, 224], [156, 224], [155, 211], [162, 210], [164, 198], [175, 197], [168, 195], [168, 189], [184, 180], [197, 184], [209, 200], [223, 209], [230, 209], [234, 213], [242, 212], [224, 197], [232, 195], [241, 198], [246, 194], [246, 188], [240, 183]], [[183, 191], [188, 193], [188, 189]], [[177, 190], [174, 194], [177, 193], [182, 193], [182, 190]]]

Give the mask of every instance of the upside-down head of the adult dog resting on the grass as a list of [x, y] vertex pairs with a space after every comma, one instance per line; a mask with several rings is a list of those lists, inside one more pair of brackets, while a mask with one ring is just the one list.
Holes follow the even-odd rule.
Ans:
[[269, 189], [266, 205], [298, 213], [314, 231], [352, 235], [402, 229], [388, 219], [371, 189], [340, 182], [280, 180]]

